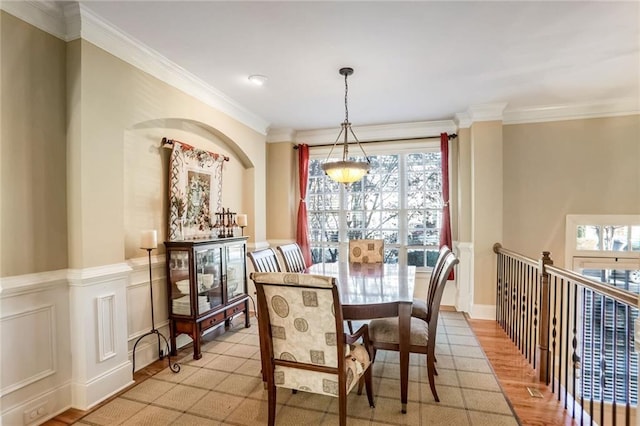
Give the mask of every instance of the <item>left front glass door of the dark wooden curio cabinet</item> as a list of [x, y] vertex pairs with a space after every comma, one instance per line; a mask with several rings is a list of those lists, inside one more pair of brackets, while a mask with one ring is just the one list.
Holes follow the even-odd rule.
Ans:
[[196, 286], [198, 289], [196, 314], [202, 315], [222, 305], [222, 248], [212, 247], [196, 251]]

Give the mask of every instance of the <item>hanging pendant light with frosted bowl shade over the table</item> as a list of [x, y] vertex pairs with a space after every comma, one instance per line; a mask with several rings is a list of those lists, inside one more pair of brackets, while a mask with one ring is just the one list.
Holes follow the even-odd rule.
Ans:
[[[332, 180], [347, 185], [349, 183], [359, 181], [364, 175], [369, 173], [370, 161], [369, 157], [367, 157], [367, 153], [364, 152], [364, 148], [360, 145], [360, 141], [356, 137], [355, 133], [353, 133], [351, 123], [349, 122], [349, 106], [347, 102], [349, 86], [347, 84], [347, 77], [353, 74], [353, 68], [340, 68], [340, 71], [338, 72], [340, 75], [344, 76], [344, 121], [341, 124], [340, 133], [338, 134], [336, 141], [333, 143], [325, 163], [322, 165], [322, 170], [324, 170]], [[349, 142], [347, 140], [349, 134], [351, 134], [355, 139], [366, 161], [355, 161], [349, 159]], [[330, 162], [329, 158], [331, 157], [333, 149], [338, 144], [340, 137], [344, 138], [342, 143], [342, 160]]]

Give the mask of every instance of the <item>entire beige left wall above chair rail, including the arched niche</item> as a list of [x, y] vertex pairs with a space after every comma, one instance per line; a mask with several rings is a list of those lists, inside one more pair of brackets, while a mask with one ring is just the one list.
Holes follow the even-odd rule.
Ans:
[[[231, 157], [223, 204], [247, 213], [251, 240], [266, 239], [264, 135], [85, 40], [1, 17], [2, 276], [140, 256], [142, 227], [162, 241], [162, 136]], [[142, 188], [146, 204], [132, 203]]]

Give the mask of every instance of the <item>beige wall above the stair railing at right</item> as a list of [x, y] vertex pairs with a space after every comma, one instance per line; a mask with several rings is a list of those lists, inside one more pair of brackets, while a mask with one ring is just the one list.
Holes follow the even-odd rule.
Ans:
[[506, 125], [503, 246], [564, 265], [568, 214], [640, 213], [640, 115]]

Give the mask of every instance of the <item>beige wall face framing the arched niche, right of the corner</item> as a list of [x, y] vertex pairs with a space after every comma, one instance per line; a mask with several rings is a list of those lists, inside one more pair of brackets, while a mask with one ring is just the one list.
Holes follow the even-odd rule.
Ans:
[[[264, 135], [84, 40], [80, 42], [80, 55], [81, 107], [75, 112], [80, 116], [76, 122], [80, 137], [70, 140], [70, 149], [74, 152], [70, 179], [79, 182], [70, 194], [73, 200], [72, 214], [78, 218], [72, 223], [72, 267], [84, 268], [122, 261], [125, 258], [125, 240], [129, 241], [129, 245], [135, 244], [135, 235], [125, 235], [124, 187], [133, 183], [125, 181], [124, 147], [127, 132], [145, 127], [144, 123], [158, 120], [165, 125], [197, 123], [208, 129], [215, 138], [206, 142], [194, 135], [194, 140], [205, 146], [210, 143], [212, 149], [224, 145], [223, 149], [227, 152], [237, 154], [234, 160], [243, 159], [245, 170], [255, 169], [248, 172], [254, 179], [251, 182], [239, 178], [237, 172], [235, 178], [223, 178], [227, 194], [241, 194], [254, 186], [264, 185]], [[171, 139], [174, 139], [173, 134], [185, 134], [180, 125], [164, 130], [165, 136]], [[161, 134], [154, 132], [147, 131], [147, 135], [153, 133], [157, 137]], [[147, 135], [142, 137], [141, 143], [150, 142]], [[160, 140], [156, 142], [159, 147]], [[157, 152], [155, 155], [161, 161]], [[255, 224], [252, 235], [256, 239], [264, 238], [265, 222], [260, 220], [265, 216], [264, 190], [250, 190], [254, 195], [254, 204], [250, 206], [253, 210], [246, 213]], [[239, 204], [241, 197], [234, 198], [234, 203]], [[160, 199], [158, 197], [155, 203], [150, 203], [148, 211], [136, 211], [135, 214], [146, 213], [149, 224], [161, 228], [165, 212]], [[247, 206], [237, 208], [248, 210]], [[129, 229], [129, 233], [135, 234], [135, 230]]]

